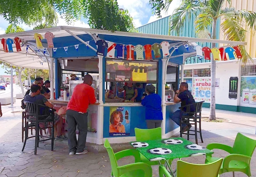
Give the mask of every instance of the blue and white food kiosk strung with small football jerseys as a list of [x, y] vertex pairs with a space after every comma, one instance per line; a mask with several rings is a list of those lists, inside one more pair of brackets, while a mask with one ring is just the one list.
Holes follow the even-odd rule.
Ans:
[[[51, 38], [44, 39], [46, 32], [51, 33]], [[40, 42], [43, 48], [37, 48], [34, 34], [42, 36]], [[61, 91], [68, 90], [72, 96], [72, 88], [82, 82], [82, 77], [87, 73], [93, 75], [96, 81], [93, 86], [99, 105], [90, 105], [88, 108], [86, 141], [97, 145], [102, 145], [106, 138], [111, 143], [134, 141], [134, 128], [146, 128], [145, 108], [138, 102], [124, 102], [125, 93], [118, 92], [118, 88], [131, 82], [140, 83], [142, 88], [147, 84], [156, 86], [156, 92], [162, 99], [162, 138], [178, 133], [179, 127], [170, 116], [178, 110], [180, 103], [166, 102], [165, 95], [173, 93], [172, 89], [178, 89], [179, 67], [181, 66], [181, 80], [183, 80], [183, 63], [187, 57], [196, 55], [195, 42], [244, 45], [244, 42], [68, 26], [5, 34], [1, 37], [20, 38], [24, 47], [22, 51], [13, 52], [13, 55], [17, 54], [18, 58], [22, 56], [24, 60], [27, 55], [38, 56], [35, 59], [28, 57], [27, 62], [40, 62], [42, 67], [49, 67], [51, 80], [49, 101], [54, 104], [57, 113], [63, 118], [69, 97], [63, 100]], [[5, 61], [5, 58], [2, 60]], [[72, 73], [77, 75], [75, 81], [71, 81], [69, 77]], [[66, 78], [70, 81], [68, 84], [72, 86], [65, 83]], [[54, 88], [56, 99], [54, 99]], [[165, 91], [165, 88], [168, 90]], [[121, 125], [124, 129], [121, 133], [110, 132], [111, 115], [114, 111], [122, 113]], [[63, 126], [65, 129], [66, 122]]]

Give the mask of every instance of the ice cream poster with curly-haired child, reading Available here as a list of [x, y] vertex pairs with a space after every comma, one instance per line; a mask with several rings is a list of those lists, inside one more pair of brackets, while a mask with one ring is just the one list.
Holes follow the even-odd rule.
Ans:
[[129, 136], [131, 128], [130, 107], [110, 107], [109, 135]]

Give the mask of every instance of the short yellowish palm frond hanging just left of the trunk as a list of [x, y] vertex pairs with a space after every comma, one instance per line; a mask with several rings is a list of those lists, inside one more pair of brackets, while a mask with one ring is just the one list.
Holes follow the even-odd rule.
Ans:
[[200, 13], [195, 19], [196, 33], [201, 30], [207, 29], [212, 25], [213, 16], [210, 13]]

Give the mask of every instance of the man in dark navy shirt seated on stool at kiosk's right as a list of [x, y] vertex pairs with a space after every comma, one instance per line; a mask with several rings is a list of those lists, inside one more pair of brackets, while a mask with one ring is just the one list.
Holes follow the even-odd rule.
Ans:
[[[182, 82], [180, 84], [180, 89], [175, 92], [173, 101], [181, 102], [181, 106], [195, 103], [195, 99], [193, 98], [193, 96], [190, 93], [190, 91], [188, 90], [188, 88], [189, 88], [188, 84], [186, 82]], [[180, 119], [181, 119], [180, 111], [181, 110], [175, 111], [171, 116], [171, 119], [179, 126], [181, 126], [180, 125]], [[186, 110], [184, 110], [184, 111], [186, 111]], [[194, 112], [194, 111], [195, 111], [195, 106], [191, 106], [190, 112]], [[185, 115], [185, 113], [182, 113], [182, 115]], [[191, 128], [191, 125], [189, 123], [182, 124], [182, 132], [188, 131], [190, 128]]]

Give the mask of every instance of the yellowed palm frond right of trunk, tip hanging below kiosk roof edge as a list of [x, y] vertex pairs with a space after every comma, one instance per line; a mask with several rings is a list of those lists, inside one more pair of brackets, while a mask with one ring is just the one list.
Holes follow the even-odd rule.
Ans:
[[[238, 14], [234, 12], [228, 12], [223, 14], [223, 22], [221, 23], [221, 29], [224, 32], [225, 39], [229, 41], [245, 41], [246, 30], [242, 27], [241, 20]], [[244, 46], [240, 46], [242, 58], [240, 59], [243, 64], [246, 64], [248, 59], [252, 58], [245, 50]]]

